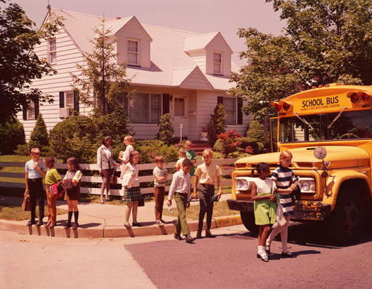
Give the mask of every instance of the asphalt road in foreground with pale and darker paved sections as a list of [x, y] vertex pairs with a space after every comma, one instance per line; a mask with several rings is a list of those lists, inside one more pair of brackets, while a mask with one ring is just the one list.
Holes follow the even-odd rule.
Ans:
[[256, 258], [243, 226], [195, 244], [150, 236], [65, 239], [0, 232], [0, 288], [372, 288], [372, 234], [332, 246], [313, 226], [291, 227], [291, 252]]

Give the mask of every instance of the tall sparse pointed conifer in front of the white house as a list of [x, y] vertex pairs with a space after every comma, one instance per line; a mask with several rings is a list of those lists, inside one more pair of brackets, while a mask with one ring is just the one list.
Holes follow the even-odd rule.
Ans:
[[[125, 65], [116, 62], [115, 40], [106, 28], [103, 18], [100, 28], [95, 28], [96, 38], [92, 53], [85, 52], [84, 65], [77, 65], [79, 75], [72, 75], [79, 101], [94, 107], [94, 114], [104, 115], [123, 106], [132, 89], [126, 77]], [[93, 96], [93, 97], [92, 97]]]

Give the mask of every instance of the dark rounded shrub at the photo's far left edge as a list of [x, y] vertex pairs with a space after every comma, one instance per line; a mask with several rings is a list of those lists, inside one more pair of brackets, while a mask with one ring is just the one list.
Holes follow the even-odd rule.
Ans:
[[[12, 154], [19, 145], [25, 146], [26, 138], [23, 125], [18, 119], [11, 118], [0, 125], [0, 153]], [[27, 146], [27, 145], [26, 145]]]

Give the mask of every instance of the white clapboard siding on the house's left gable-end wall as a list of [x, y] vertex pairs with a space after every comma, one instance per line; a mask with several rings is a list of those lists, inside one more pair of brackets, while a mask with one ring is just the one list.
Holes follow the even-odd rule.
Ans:
[[[57, 62], [53, 63], [52, 67], [57, 70], [57, 74], [45, 75], [41, 79], [34, 80], [31, 86], [31, 88], [40, 89], [43, 94], [52, 96], [54, 100], [52, 104], [47, 102], [43, 104], [40, 102], [39, 111], [43, 115], [48, 131], [63, 120], [60, 118], [60, 92], [72, 90], [71, 73], [79, 75], [76, 65], [77, 63], [84, 65], [83, 56], [79, 48], [77, 48], [67, 33], [61, 30], [55, 38], [57, 44]], [[47, 58], [47, 42], [43, 41], [43, 43], [40, 43], [40, 45], [35, 47], [34, 51], [40, 58]], [[87, 114], [90, 110], [80, 105], [80, 112], [82, 114]], [[22, 111], [17, 114], [17, 117], [23, 123], [26, 140], [28, 141], [36, 121], [34, 119], [23, 120]]]

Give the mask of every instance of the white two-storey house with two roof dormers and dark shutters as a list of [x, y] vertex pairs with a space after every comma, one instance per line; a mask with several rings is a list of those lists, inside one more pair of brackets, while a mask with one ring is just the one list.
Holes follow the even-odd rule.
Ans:
[[[77, 64], [84, 64], [84, 52], [91, 52], [94, 28], [101, 18], [83, 13], [51, 9], [64, 18], [64, 26], [54, 38], [35, 48], [40, 58], [47, 58], [56, 75], [44, 76], [33, 87], [51, 95], [52, 104], [33, 104], [32, 109], [18, 114], [26, 138], [35, 125], [38, 113], [43, 114], [47, 129], [69, 116], [69, 108], [88, 114], [72, 92], [72, 76], [79, 74]], [[249, 116], [241, 112], [242, 102], [227, 96], [234, 84], [229, 82], [232, 50], [220, 32], [200, 34], [140, 23], [135, 16], [107, 18], [108, 28], [116, 40], [118, 63], [127, 64], [128, 77], [136, 89], [130, 99], [130, 121], [139, 139], [154, 138], [159, 130], [159, 116], [170, 113], [176, 136], [197, 140], [203, 126], [210, 121], [215, 105], [223, 103], [227, 113], [227, 129], [244, 133]]]

